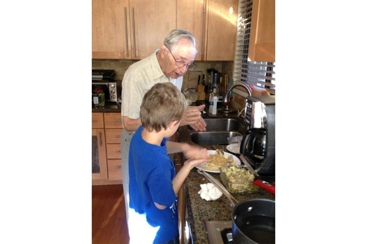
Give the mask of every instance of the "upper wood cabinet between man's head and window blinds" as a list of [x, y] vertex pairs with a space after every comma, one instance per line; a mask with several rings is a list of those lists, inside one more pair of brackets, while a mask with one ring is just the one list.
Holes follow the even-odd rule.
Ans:
[[177, 0], [177, 28], [197, 40], [195, 60], [233, 60], [238, 0]]

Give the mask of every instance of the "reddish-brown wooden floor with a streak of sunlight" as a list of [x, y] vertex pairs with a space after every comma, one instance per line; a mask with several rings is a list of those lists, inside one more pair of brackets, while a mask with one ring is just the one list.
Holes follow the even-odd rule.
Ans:
[[122, 185], [92, 185], [92, 244], [129, 240]]

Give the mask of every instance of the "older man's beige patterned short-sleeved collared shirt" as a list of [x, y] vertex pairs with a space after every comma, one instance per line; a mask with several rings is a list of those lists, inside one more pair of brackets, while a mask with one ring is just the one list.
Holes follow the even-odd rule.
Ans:
[[156, 53], [142, 59], [127, 69], [122, 80], [121, 117], [138, 119], [144, 94], [156, 83], [171, 82], [181, 91], [182, 76], [168, 79], [161, 70]]

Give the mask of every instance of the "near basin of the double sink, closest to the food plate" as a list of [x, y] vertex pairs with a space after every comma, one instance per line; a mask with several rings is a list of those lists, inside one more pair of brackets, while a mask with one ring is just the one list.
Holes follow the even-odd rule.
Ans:
[[218, 144], [229, 144], [227, 138], [232, 136], [242, 135], [235, 131], [203, 131], [203, 132], [192, 132], [190, 138], [192, 142], [199, 145], [218, 145]]

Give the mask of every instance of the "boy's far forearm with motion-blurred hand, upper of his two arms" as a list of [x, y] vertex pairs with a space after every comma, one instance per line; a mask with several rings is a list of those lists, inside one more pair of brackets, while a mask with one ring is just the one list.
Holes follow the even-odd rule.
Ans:
[[[207, 150], [187, 143], [166, 141], [167, 153], [183, 153], [185, 158], [207, 159]], [[205, 161], [204, 161], [205, 162]]]

